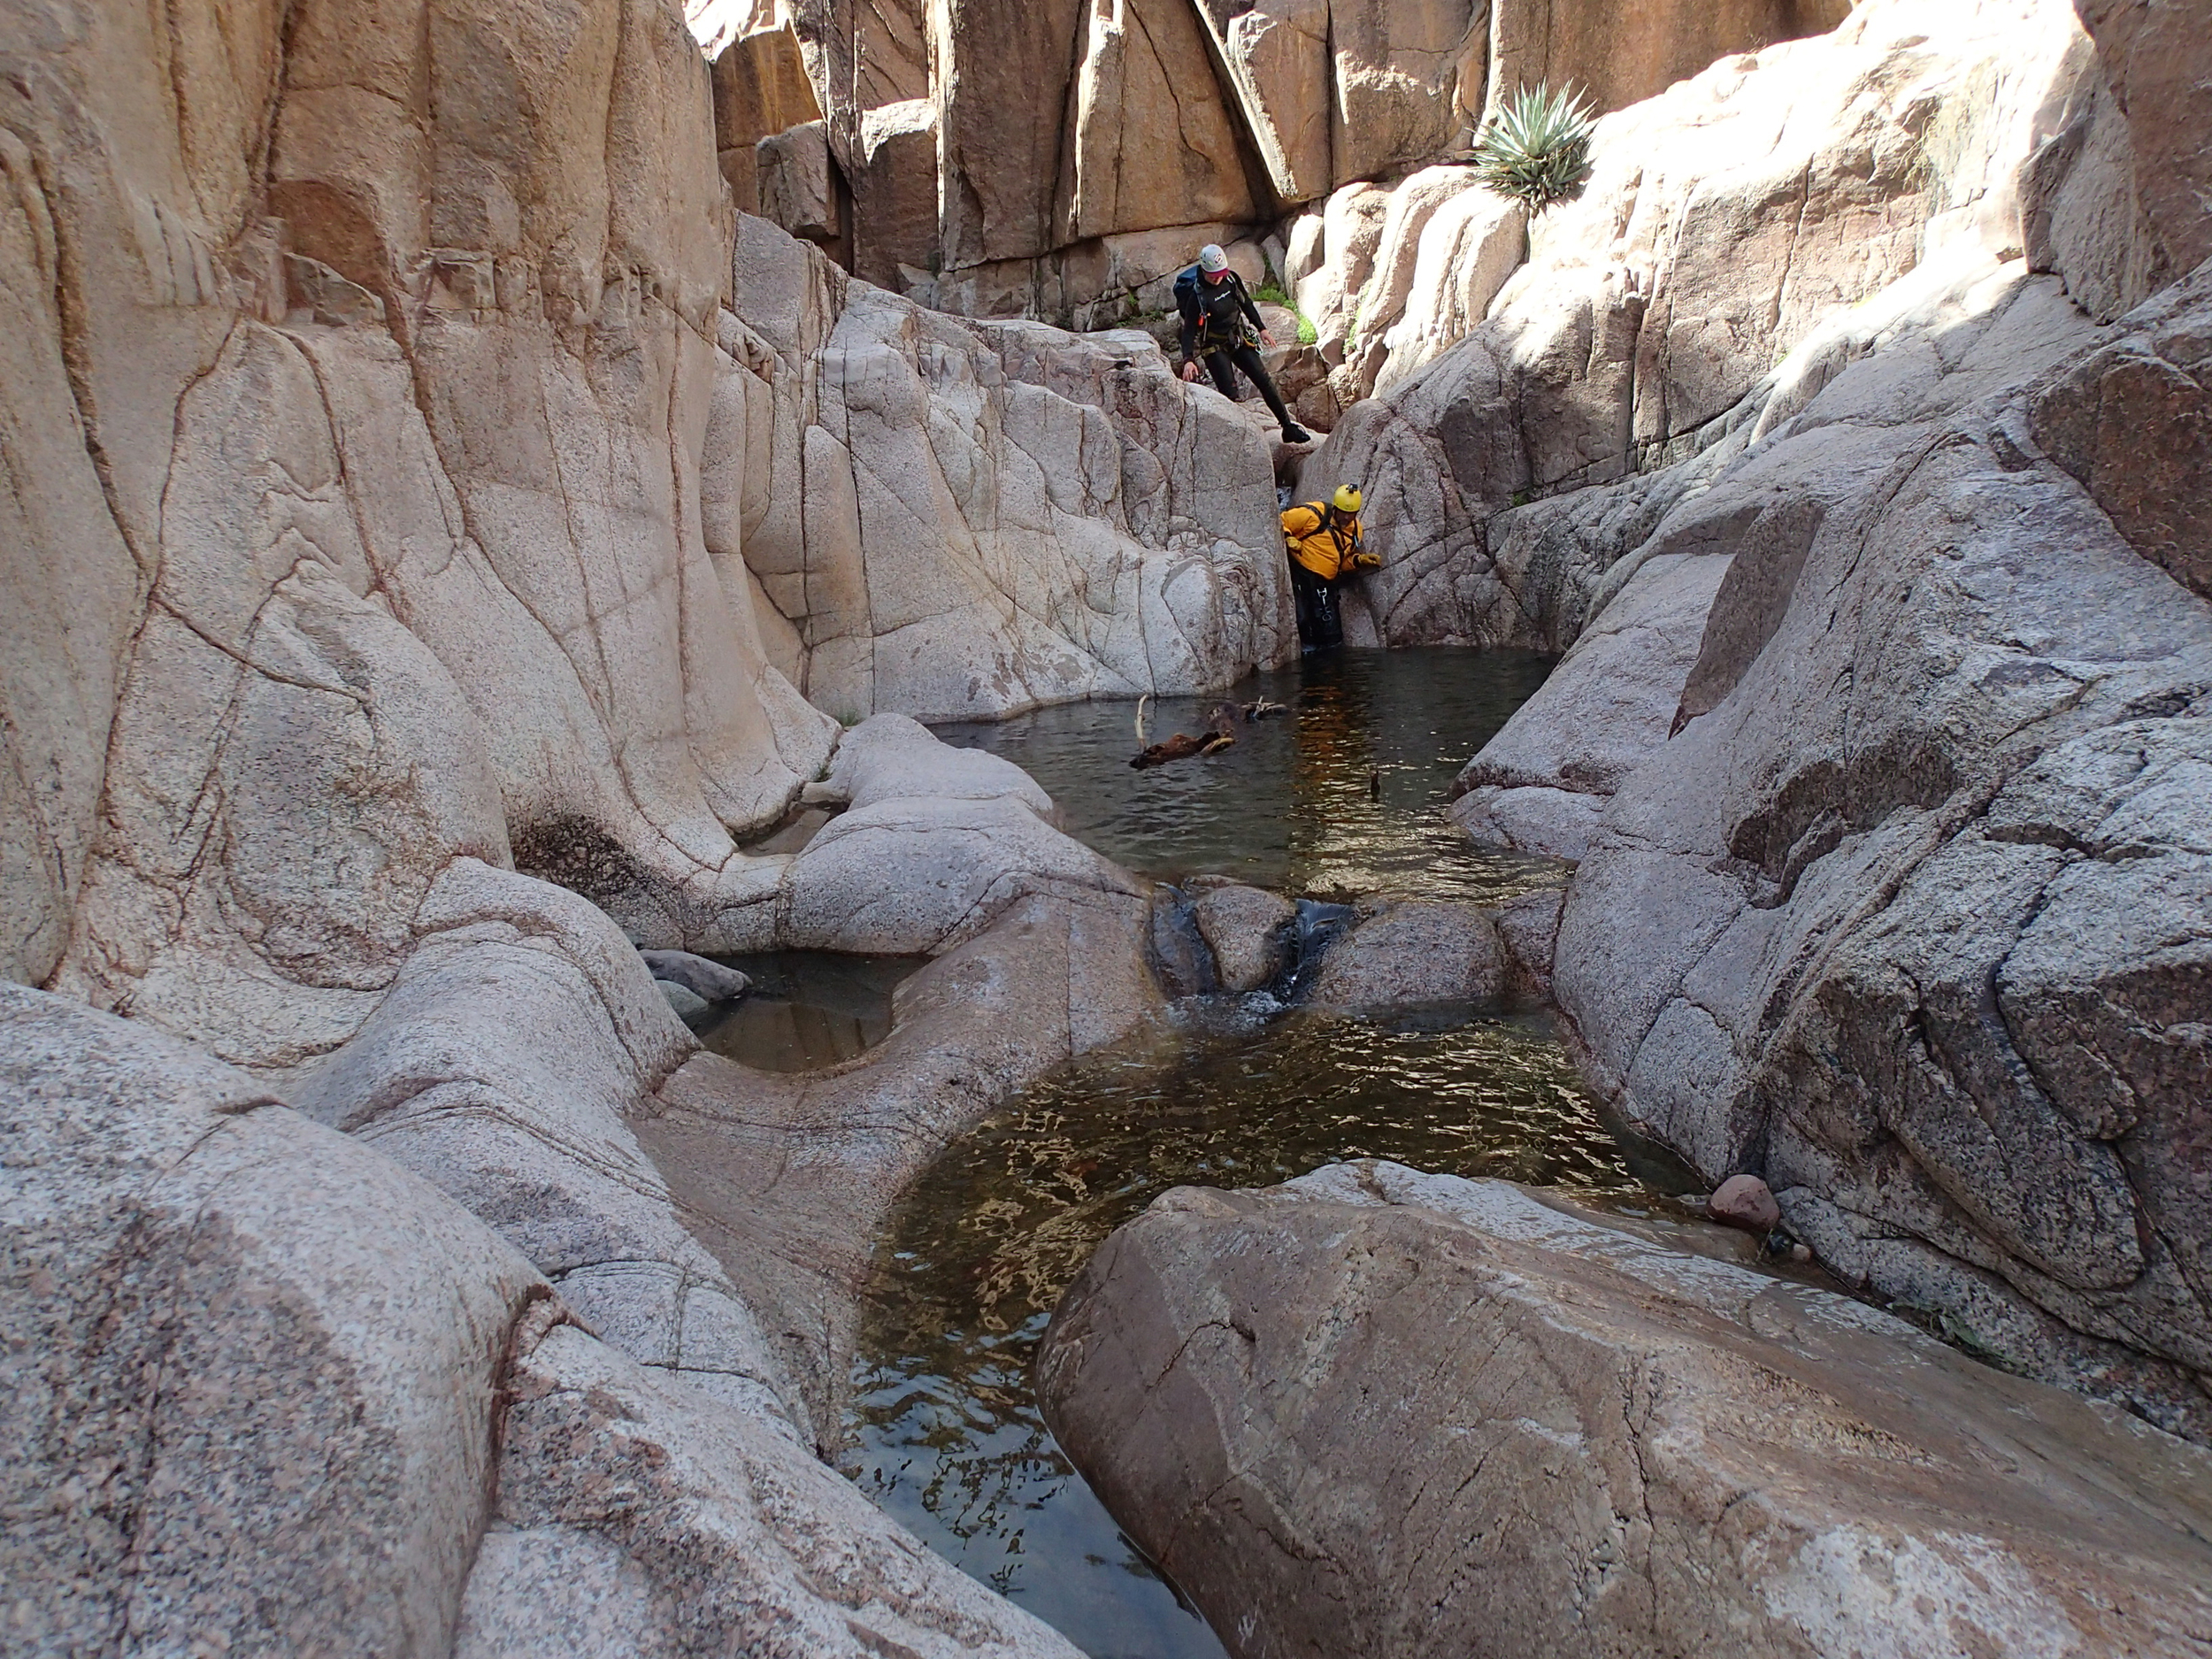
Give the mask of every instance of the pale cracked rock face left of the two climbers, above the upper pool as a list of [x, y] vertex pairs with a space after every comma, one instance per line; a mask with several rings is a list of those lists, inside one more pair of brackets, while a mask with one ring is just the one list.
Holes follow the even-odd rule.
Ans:
[[975, 325], [741, 221], [708, 546], [841, 717], [1212, 690], [1294, 644], [1272, 462], [1141, 334]]

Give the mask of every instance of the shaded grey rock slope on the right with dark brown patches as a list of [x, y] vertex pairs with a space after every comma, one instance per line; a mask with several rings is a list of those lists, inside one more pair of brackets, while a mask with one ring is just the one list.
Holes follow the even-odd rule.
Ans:
[[[2110, 345], [2015, 268], [1807, 403], [1778, 389], [1588, 635], [1624, 672], [1666, 657], [1672, 719], [1655, 684], [1597, 737], [1562, 670], [1460, 803], [1502, 823], [1571, 768], [1599, 796], [1555, 989], [1624, 1117], [1712, 1181], [1761, 1172], [1851, 1283], [2199, 1436], [2185, 779], [2212, 611], [2161, 568], [2188, 571], [2185, 478], [2130, 476], [2108, 515], [2057, 462], [2117, 442], [2079, 416], [2099, 387], [2188, 383], [2148, 343], [2203, 305], [2179, 288]], [[1677, 531], [1714, 533], [1725, 573], [1630, 648], [1606, 617], [1666, 580]]]

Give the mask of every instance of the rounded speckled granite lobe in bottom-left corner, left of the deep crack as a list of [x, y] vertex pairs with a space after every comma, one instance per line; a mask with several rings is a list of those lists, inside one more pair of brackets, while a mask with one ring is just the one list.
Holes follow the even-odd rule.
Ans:
[[544, 1294], [246, 1073], [0, 984], [9, 1644], [434, 1652]]

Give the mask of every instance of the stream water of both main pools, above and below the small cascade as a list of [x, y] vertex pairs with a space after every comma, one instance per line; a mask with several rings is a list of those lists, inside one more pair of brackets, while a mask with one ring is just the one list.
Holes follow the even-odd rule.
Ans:
[[[1133, 703], [1075, 703], [947, 743], [1026, 768], [1071, 834], [1159, 880], [1225, 874], [1323, 900], [1500, 902], [1564, 883], [1475, 852], [1453, 774], [1548, 659], [1338, 650], [1232, 692], [1287, 712], [1148, 772]], [[1152, 741], [1214, 699], [1148, 710]], [[1270, 1186], [1347, 1157], [1495, 1175], [1637, 1208], [1646, 1188], [1542, 1013], [1318, 1018], [1270, 993], [1190, 998], [1170, 1029], [1011, 1099], [916, 1181], [878, 1248], [854, 1369], [847, 1473], [925, 1542], [1093, 1659], [1221, 1644], [1115, 1528], [1037, 1416], [1029, 1363], [1097, 1243], [1170, 1186]]]

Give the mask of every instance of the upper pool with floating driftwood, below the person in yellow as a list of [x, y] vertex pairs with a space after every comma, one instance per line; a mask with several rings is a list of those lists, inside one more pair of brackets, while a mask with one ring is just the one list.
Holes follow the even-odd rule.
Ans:
[[[1316, 653], [1228, 697], [1283, 703], [1234, 748], [1133, 772], [1135, 703], [1064, 703], [993, 726], [938, 726], [1051, 792], [1068, 834], [1159, 880], [1219, 874], [1314, 898], [1498, 902], [1559, 885], [1559, 865], [1475, 852], [1444, 816], [1451, 779], [1551, 672], [1528, 650]], [[1146, 734], [1201, 732], [1214, 697], [1146, 708]]]

